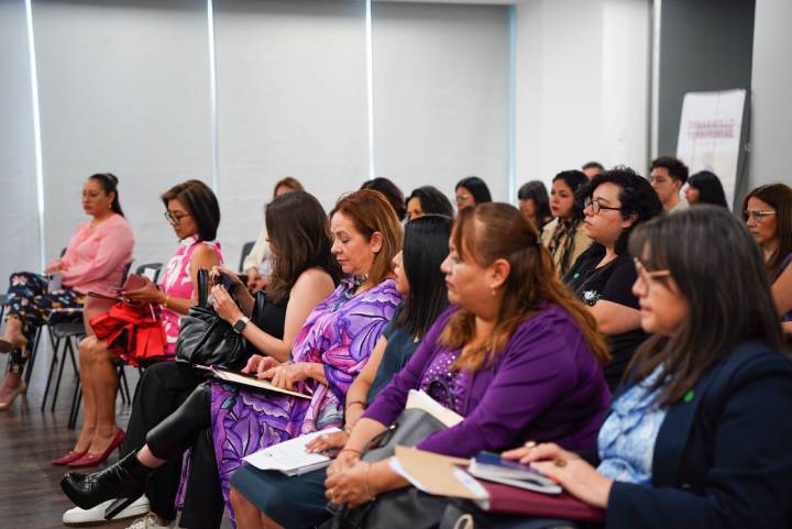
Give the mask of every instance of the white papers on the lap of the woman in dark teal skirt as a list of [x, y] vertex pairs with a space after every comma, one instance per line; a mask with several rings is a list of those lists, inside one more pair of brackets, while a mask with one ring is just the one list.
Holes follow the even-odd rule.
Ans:
[[323, 469], [332, 462], [332, 459], [324, 454], [306, 452], [306, 444], [322, 433], [333, 433], [338, 431], [341, 430], [338, 428], [329, 428], [327, 430], [306, 433], [305, 436], [262, 449], [242, 460], [256, 469], [263, 471], [279, 471], [287, 476], [306, 474]]

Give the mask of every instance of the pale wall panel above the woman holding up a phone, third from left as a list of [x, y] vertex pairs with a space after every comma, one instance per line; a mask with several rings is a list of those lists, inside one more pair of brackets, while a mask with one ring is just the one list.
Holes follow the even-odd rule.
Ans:
[[369, 178], [365, 3], [215, 2], [220, 240], [237, 266], [275, 183], [326, 209]]

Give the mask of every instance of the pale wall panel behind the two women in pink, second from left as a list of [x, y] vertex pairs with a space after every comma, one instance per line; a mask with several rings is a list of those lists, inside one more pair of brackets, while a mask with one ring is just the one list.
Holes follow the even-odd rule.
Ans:
[[211, 181], [206, 2], [36, 1], [33, 22], [48, 258], [86, 219], [85, 178], [112, 172], [138, 264], [167, 261], [176, 240], [160, 195]]

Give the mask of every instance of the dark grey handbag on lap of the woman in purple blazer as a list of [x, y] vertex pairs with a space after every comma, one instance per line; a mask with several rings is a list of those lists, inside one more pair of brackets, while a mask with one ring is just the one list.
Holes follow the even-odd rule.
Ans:
[[[444, 385], [440, 381], [432, 384]], [[451, 393], [447, 390], [447, 395]], [[385, 431], [372, 438], [361, 459], [367, 462], [391, 458], [396, 447], [415, 447], [435, 432], [447, 429], [446, 425], [420, 409], [405, 409]], [[372, 502], [358, 507], [338, 509], [331, 520], [322, 525], [328, 529], [433, 529], [437, 528], [449, 498], [433, 496], [406, 487], [381, 494]], [[328, 506], [332, 509], [332, 506]]]

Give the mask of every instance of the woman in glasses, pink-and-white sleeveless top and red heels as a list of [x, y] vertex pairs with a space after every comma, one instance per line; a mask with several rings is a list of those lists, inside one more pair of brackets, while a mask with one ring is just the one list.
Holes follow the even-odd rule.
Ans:
[[[213, 242], [220, 223], [220, 208], [209, 187], [200, 180], [178, 184], [163, 194], [165, 217], [170, 223], [179, 247], [164, 269], [160, 285], [145, 279], [145, 286], [125, 290], [123, 296], [134, 304], [151, 304], [167, 340], [165, 355], [176, 353], [179, 317], [195, 304], [194, 286], [199, 268], [222, 263], [220, 243]], [[103, 462], [124, 439], [116, 425], [116, 393], [119, 356], [110, 351], [107, 340], [91, 335], [79, 344], [80, 384], [82, 387], [82, 429], [74, 448], [52, 461], [73, 469], [96, 466]]]

